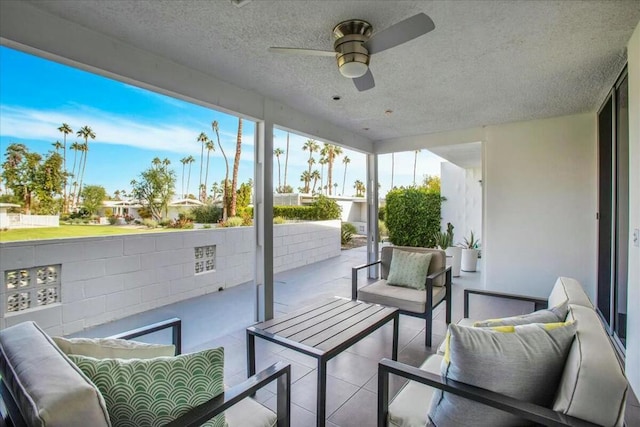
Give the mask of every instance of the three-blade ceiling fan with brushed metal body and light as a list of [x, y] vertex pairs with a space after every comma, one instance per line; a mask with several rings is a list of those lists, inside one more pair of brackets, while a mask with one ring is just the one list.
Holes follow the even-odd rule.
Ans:
[[333, 56], [338, 61], [340, 74], [353, 79], [356, 88], [362, 92], [375, 86], [373, 74], [369, 69], [371, 55], [427, 34], [435, 27], [431, 18], [424, 13], [418, 13], [372, 35], [373, 28], [367, 21], [349, 19], [339, 23], [333, 29], [333, 35], [336, 38], [333, 51], [270, 47], [269, 52]]

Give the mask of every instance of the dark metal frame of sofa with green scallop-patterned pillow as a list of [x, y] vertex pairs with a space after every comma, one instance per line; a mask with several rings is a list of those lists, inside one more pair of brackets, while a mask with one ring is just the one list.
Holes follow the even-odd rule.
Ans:
[[[113, 335], [110, 338], [133, 339], [164, 329], [172, 330], [172, 344], [176, 354], [182, 350], [182, 322], [178, 318], [168, 319], [152, 325]], [[246, 397], [253, 396], [272, 381], [277, 381], [276, 415], [278, 427], [289, 427], [291, 419], [291, 365], [277, 362], [253, 375], [242, 383], [225, 390], [211, 400], [196, 406], [186, 414], [166, 424], [165, 427], [197, 427], [220, 415]], [[0, 381], [0, 424], [7, 427], [27, 427], [4, 379]]]

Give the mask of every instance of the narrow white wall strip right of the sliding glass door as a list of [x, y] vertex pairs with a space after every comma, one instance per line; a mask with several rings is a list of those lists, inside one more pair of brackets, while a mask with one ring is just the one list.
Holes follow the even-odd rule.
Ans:
[[627, 48], [629, 61], [629, 277], [626, 373], [640, 395], [640, 248], [633, 230], [640, 229], [640, 24]]

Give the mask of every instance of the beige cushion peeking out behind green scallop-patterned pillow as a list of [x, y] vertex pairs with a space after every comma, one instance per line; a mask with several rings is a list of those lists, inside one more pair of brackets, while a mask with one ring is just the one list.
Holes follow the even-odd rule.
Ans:
[[65, 354], [78, 354], [96, 359], [151, 359], [176, 354], [174, 345], [147, 344], [116, 338], [53, 337], [53, 341]]

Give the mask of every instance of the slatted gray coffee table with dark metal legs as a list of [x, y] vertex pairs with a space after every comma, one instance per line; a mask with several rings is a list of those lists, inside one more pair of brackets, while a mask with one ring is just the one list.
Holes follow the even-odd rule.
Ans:
[[398, 360], [397, 308], [346, 298], [331, 298], [247, 328], [247, 369], [256, 372], [255, 337], [274, 342], [318, 361], [317, 425], [324, 427], [327, 362], [393, 320], [392, 358]]

